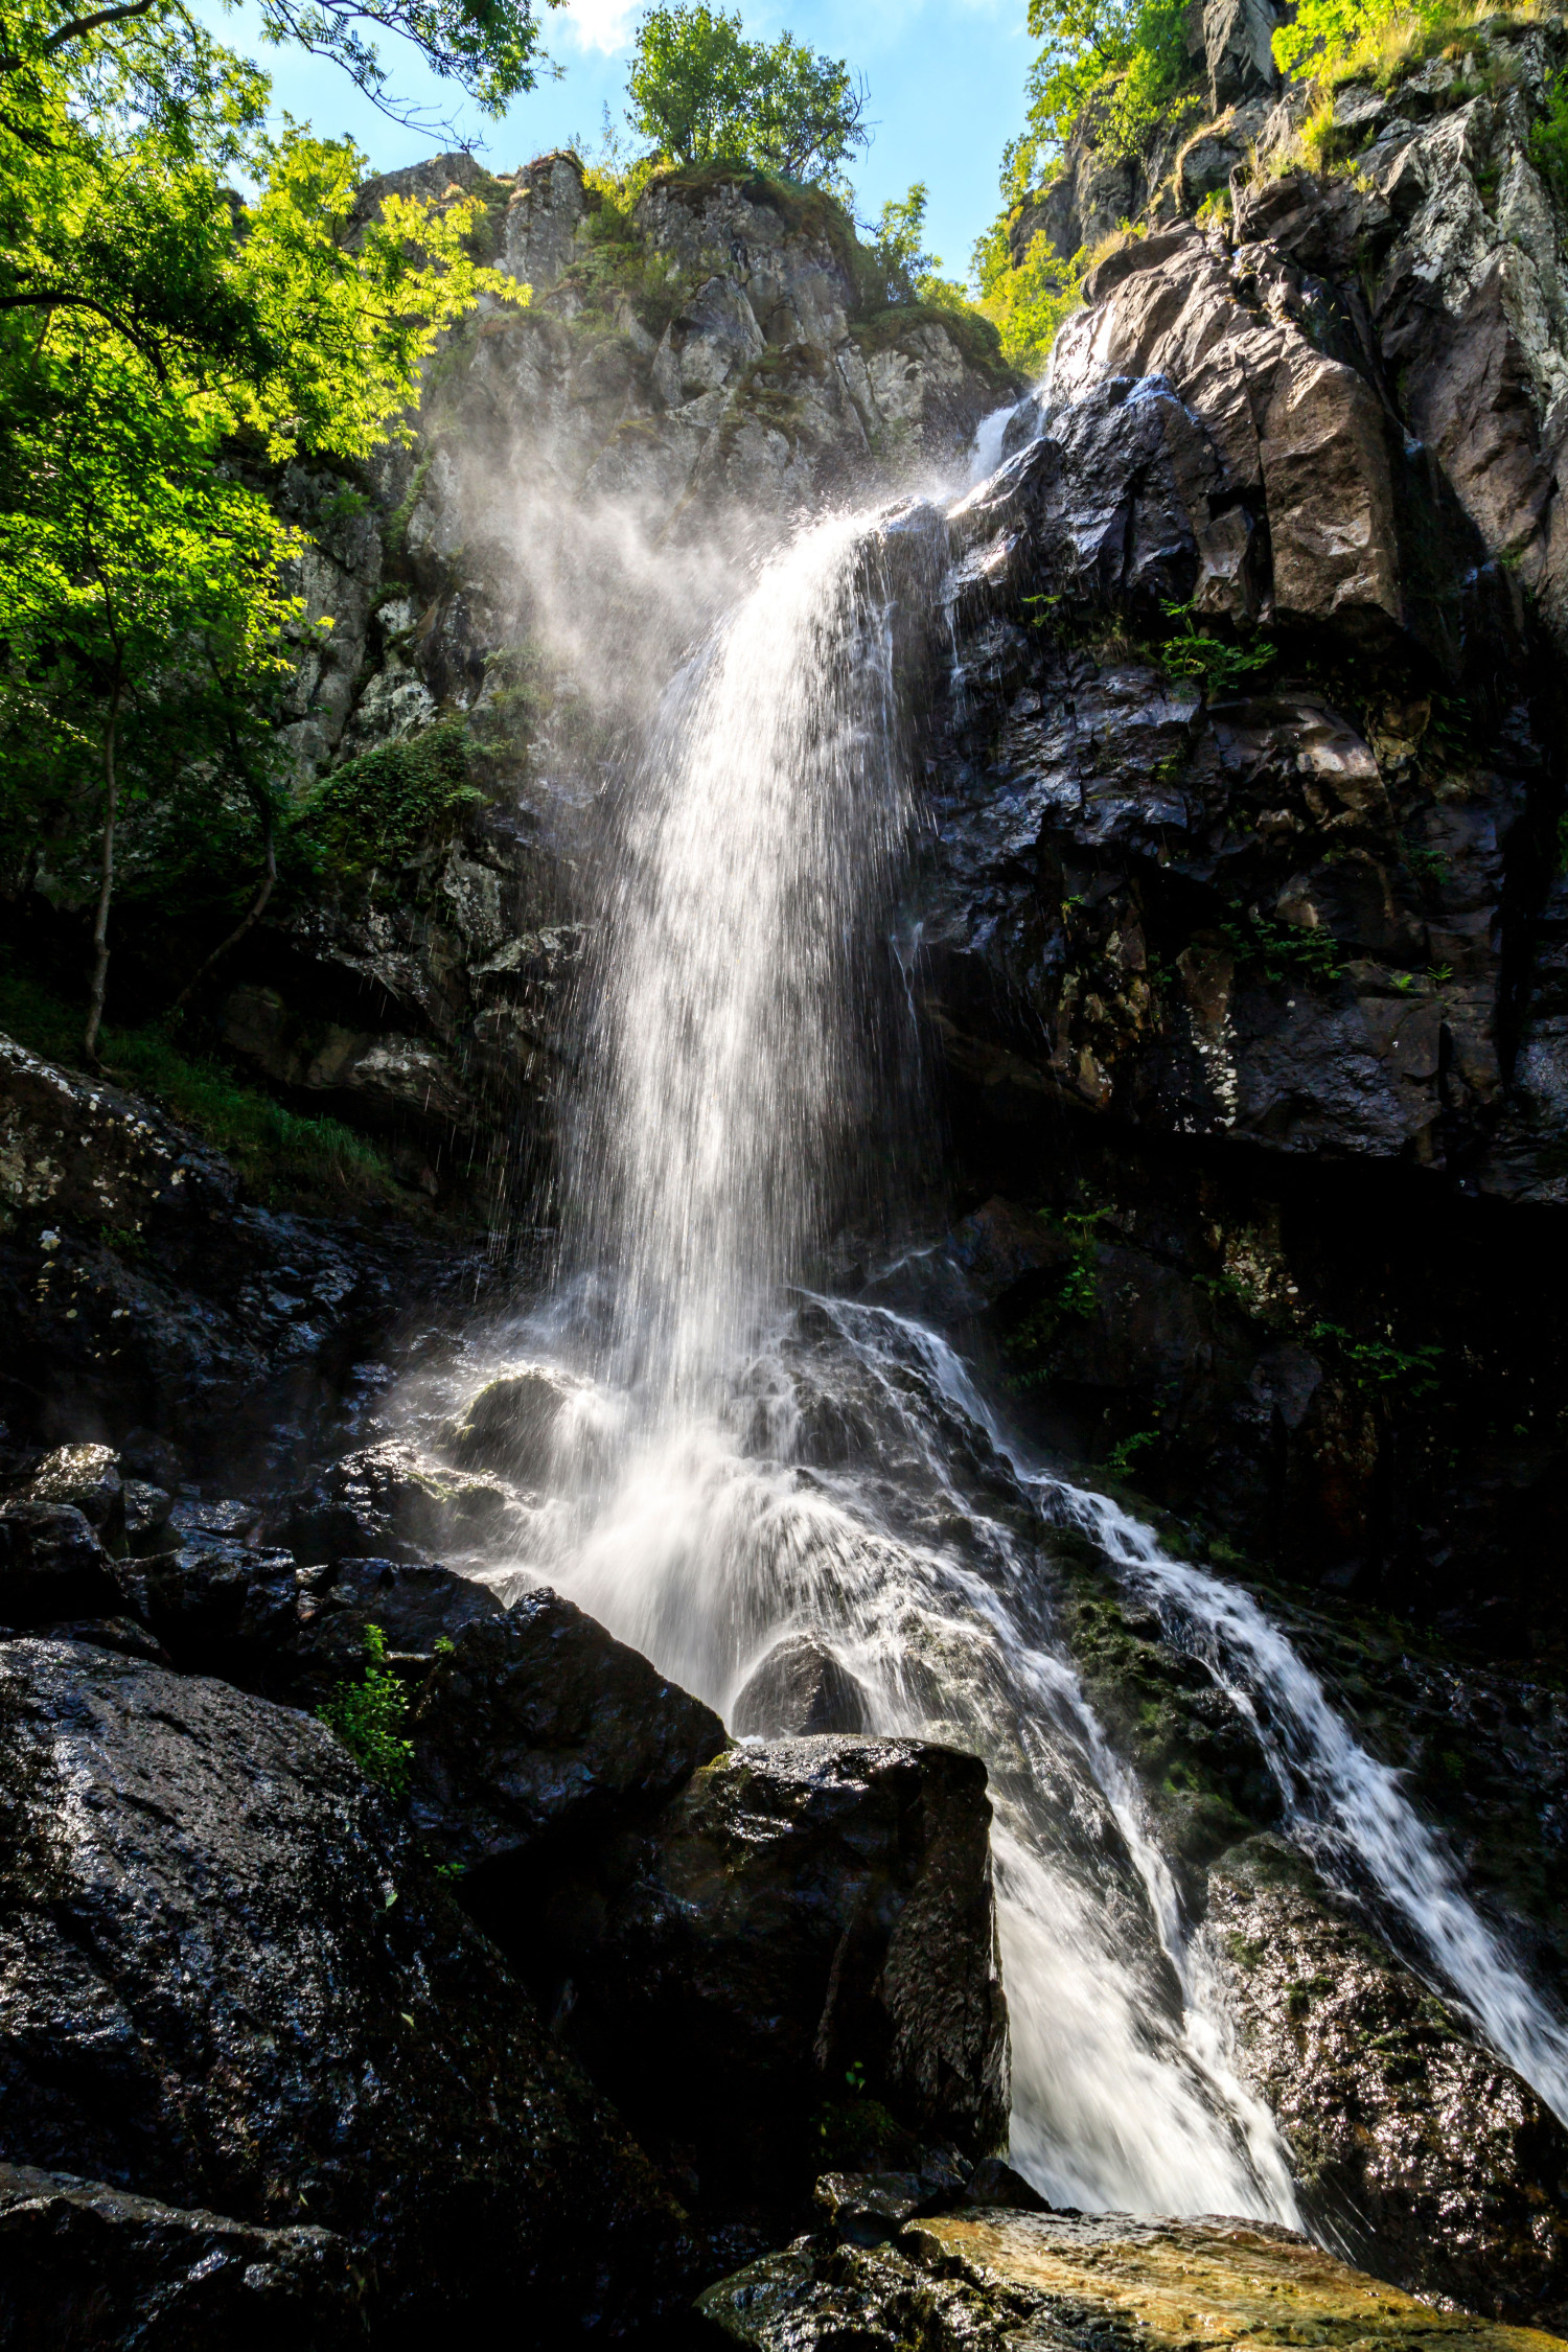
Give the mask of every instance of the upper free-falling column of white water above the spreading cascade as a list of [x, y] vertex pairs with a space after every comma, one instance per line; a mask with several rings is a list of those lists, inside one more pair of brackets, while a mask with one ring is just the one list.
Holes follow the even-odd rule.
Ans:
[[712, 1402], [884, 1124], [896, 739], [889, 541], [835, 517], [677, 680], [616, 849], [569, 1200], [644, 1411]]

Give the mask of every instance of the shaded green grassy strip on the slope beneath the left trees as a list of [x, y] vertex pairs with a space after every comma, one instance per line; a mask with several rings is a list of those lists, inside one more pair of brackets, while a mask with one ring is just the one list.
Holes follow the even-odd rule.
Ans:
[[[80, 1068], [82, 1021], [80, 1007], [26, 974], [0, 969], [0, 1028], [33, 1054]], [[223, 1063], [181, 1051], [165, 1028], [106, 1025], [101, 1056], [110, 1082], [146, 1094], [190, 1127], [233, 1162], [261, 1200], [346, 1207], [383, 1200], [397, 1188], [374, 1143], [336, 1120], [284, 1110]]]

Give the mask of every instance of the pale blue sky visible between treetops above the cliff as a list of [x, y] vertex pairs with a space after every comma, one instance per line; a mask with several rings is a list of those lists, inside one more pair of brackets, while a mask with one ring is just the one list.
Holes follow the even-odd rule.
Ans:
[[[263, 49], [244, 0], [233, 12], [209, 0], [202, 14], [219, 38], [268, 68], [280, 108], [320, 132], [350, 132], [376, 169], [390, 172], [433, 153], [430, 141], [360, 99], [336, 68], [294, 49]], [[548, 47], [564, 68], [562, 78], [541, 82], [503, 122], [487, 125], [475, 111], [458, 115], [463, 136], [475, 148], [482, 143], [494, 172], [510, 172], [571, 139], [597, 148], [604, 106], [616, 122], [625, 108], [625, 61], [637, 14], [639, 0], [569, 0], [545, 12]], [[865, 75], [877, 136], [853, 172], [858, 209], [875, 216], [884, 198], [903, 195], [910, 181], [924, 179], [931, 191], [926, 242], [943, 256], [947, 278], [964, 278], [969, 249], [1001, 202], [1001, 143], [1023, 125], [1030, 61], [1025, 0], [858, 0], [856, 7], [844, 0], [750, 7], [743, 0], [741, 16], [752, 35], [778, 38], [788, 28]], [[400, 45], [386, 42], [400, 89], [430, 99], [442, 118], [451, 118], [451, 92], [421, 75], [411, 52], [395, 49]]]

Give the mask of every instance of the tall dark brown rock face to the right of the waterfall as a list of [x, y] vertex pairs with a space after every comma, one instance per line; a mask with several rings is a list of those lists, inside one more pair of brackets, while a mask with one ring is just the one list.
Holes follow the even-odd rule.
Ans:
[[1342, 92], [1354, 174], [1237, 174], [1229, 235], [1166, 191], [1091, 270], [952, 517], [922, 894], [954, 1256], [1044, 1435], [1516, 1649], [1495, 1515], [1556, 1541], [1568, 1402], [1561, 1254], [1490, 1214], [1561, 1209], [1556, 42]]

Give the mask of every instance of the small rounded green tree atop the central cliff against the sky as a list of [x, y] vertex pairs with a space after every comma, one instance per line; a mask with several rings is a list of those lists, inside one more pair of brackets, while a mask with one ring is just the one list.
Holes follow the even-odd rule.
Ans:
[[651, 7], [637, 26], [628, 120], [679, 165], [736, 160], [837, 186], [870, 141], [865, 92], [842, 59], [788, 33], [748, 40], [738, 16], [703, 5]]

